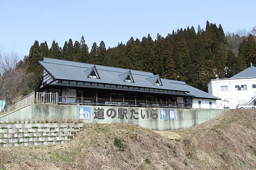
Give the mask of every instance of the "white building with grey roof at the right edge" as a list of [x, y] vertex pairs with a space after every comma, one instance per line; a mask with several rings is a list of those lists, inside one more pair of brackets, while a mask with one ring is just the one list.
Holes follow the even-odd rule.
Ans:
[[256, 67], [251, 66], [231, 78], [212, 79], [208, 91], [221, 100], [218, 109], [236, 109], [238, 104], [256, 104]]

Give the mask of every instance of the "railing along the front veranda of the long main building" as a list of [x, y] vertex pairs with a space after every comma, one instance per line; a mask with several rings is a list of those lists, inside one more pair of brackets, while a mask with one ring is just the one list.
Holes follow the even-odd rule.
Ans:
[[103, 106], [192, 108], [191, 103], [68, 97], [58, 96], [58, 93], [37, 93], [37, 104], [80, 104]]

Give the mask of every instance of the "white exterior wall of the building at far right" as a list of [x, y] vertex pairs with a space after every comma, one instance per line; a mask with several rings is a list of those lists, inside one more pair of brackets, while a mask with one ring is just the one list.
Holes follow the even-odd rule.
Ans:
[[[252, 88], [255, 84], [256, 78], [214, 79], [208, 84], [208, 90], [210, 94], [221, 98], [217, 102], [218, 109], [236, 109], [239, 103], [246, 103], [256, 94], [256, 88]], [[237, 91], [235, 85], [247, 85], [247, 90]], [[228, 86], [228, 91], [221, 91], [221, 86]]]

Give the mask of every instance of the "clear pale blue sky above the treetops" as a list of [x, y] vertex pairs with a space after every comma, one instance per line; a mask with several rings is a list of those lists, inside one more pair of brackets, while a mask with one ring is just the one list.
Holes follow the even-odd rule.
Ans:
[[157, 33], [166, 36], [178, 28], [206, 21], [221, 24], [224, 32], [256, 26], [256, 0], [0, 0], [0, 49], [29, 54], [35, 40], [53, 40], [63, 47], [81, 36], [91, 50], [96, 42], [106, 47]]

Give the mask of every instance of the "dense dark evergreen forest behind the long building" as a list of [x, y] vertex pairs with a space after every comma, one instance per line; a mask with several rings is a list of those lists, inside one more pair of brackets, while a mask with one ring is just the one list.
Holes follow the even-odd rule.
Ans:
[[205, 92], [210, 79], [229, 78], [248, 68], [250, 62], [256, 66], [256, 27], [249, 33], [225, 34], [219, 24], [206, 22], [205, 29], [198, 26], [180, 28], [166, 37], [157, 34], [154, 40], [150, 34], [131, 37], [126, 43], [106, 48], [103, 41], [94, 42], [89, 51], [84, 36], [80, 41], [69, 39], [61, 47], [53, 41], [35, 41], [29, 55], [20, 60], [16, 67], [26, 66], [27, 79], [21, 94], [36, 90], [42, 75], [37, 61], [44, 57], [91, 63], [110, 67], [127, 68], [159, 74], [161, 78], [185, 81]]

